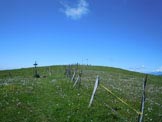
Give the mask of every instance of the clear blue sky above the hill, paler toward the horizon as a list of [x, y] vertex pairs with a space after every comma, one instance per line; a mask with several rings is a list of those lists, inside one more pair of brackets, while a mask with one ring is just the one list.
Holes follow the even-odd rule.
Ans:
[[162, 71], [161, 0], [0, 0], [0, 69], [88, 63]]

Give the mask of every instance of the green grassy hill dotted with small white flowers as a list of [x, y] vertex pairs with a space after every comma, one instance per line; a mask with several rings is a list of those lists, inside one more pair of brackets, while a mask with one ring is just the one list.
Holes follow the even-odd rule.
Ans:
[[[72, 69], [76, 66], [72, 66]], [[102, 66], [79, 66], [80, 85], [64, 75], [65, 66], [0, 71], [1, 122], [136, 122], [138, 114], [99, 85], [88, 108], [96, 76], [100, 84], [140, 110], [145, 74]], [[146, 122], [162, 121], [162, 76], [148, 76]]]

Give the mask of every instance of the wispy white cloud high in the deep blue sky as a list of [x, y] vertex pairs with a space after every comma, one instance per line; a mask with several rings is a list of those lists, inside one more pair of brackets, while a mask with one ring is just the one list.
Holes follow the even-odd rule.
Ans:
[[76, 7], [69, 6], [65, 3], [63, 4], [63, 6], [65, 7], [65, 9], [63, 10], [65, 15], [74, 20], [80, 19], [83, 15], [89, 12], [88, 3], [86, 0], [79, 0]]

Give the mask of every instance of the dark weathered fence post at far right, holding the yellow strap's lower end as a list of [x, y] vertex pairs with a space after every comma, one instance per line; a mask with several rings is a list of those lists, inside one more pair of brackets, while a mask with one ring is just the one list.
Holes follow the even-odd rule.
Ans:
[[143, 82], [143, 94], [142, 94], [142, 99], [141, 99], [141, 114], [139, 114], [139, 117], [138, 117], [138, 122], [142, 122], [143, 121], [143, 114], [144, 114], [144, 108], [145, 108], [145, 88], [146, 88], [146, 83], [147, 83], [147, 75], [145, 77], [145, 80]]

